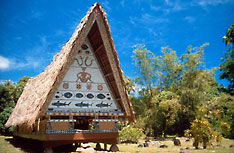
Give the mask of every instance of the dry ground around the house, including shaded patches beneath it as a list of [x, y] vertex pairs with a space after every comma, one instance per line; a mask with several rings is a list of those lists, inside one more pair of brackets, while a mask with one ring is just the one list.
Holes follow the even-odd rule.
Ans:
[[[165, 140], [151, 140], [149, 142], [149, 147], [138, 147], [139, 144], [144, 143], [144, 140], [140, 140], [138, 144], [118, 144], [120, 152], [129, 152], [129, 153], [179, 153], [181, 151], [187, 151], [189, 153], [234, 153], [234, 140], [223, 139], [223, 141], [218, 143], [213, 143], [212, 146], [207, 149], [196, 150], [192, 146], [192, 140], [185, 141], [186, 138], [179, 138], [181, 146], [175, 146], [172, 138]], [[160, 148], [160, 145], [166, 145], [166, 148]], [[90, 143], [92, 148], [95, 148], [94, 143]], [[233, 147], [230, 147], [232, 146]], [[101, 147], [104, 148], [104, 145], [101, 144]], [[109, 150], [110, 145], [107, 145], [107, 150]], [[73, 149], [73, 151], [71, 150]], [[55, 149], [55, 152], [76, 152], [76, 148], [72, 146], [60, 147]], [[0, 136], [0, 153], [41, 153], [43, 152], [42, 145], [37, 141], [15, 141], [12, 137]], [[94, 151], [96, 152], [96, 151]], [[98, 151], [98, 153], [103, 153], [107, 151]]]

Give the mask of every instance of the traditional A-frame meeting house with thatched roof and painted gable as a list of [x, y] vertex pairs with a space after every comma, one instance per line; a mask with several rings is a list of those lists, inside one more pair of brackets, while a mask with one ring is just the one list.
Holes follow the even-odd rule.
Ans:
[[50, 65], [25, 86], [6, 127], [44, 146], [115, 145], [134, 114], [106, 15], [95, 3]]

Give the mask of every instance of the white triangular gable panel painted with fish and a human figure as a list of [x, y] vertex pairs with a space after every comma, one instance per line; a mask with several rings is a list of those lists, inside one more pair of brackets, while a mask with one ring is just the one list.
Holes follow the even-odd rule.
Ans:
[[91, 47], [88, 43], [83, 44], [47, 110], [50, 112], [118, 110], [99, 68]]

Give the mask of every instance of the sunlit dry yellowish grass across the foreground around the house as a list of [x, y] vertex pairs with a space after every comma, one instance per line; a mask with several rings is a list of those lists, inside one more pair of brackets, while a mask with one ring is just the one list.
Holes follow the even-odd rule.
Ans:
[[[190, 153], [234, 153], [234, 148], [230, 148], [230, 145], [234, 145], [234, 140], [230, 139], [223, 139], [220, 146], [217, 146], [216, 143], [214, 143], [213, 147], [208, 147], [207, 149], [199, 149], [195, 150], [192, 147], [192, 140], [189, 142], [185, 142], [185, 138], [180, 138], [181, 146], [174, 146], [173, 142], [170, 139], [160, 141], [161, 144], [165, 144], [168, 146], [168, 148], [159, 148], [159, 141], [151, 141], [152, 145], [149, 147], [137, 147], [137, 144], [118, 144], [118, 147], [121, 152], [130, 152], [130, 153], [179, 153], [181, 148], [189, 148]], [[140, 140], [139, 143], [143, 143], [143, 140]], [[95, 147], [95, 144], [91, 144], [93, 147]], [[20, 147], [20, 145], [16, 145], [12, 143], [12, 137], [4, 137], [0, 136], [0, 153], [26, 153], [26, 152], [34, 152], [35, 147], [31, 147], [30, 145], [27, 146], [27, 149], [25, 150]], [[102, 148], [103, 145], [102, 145]], [[110, 145], [107, 146], [107, 148], [110, 148]], [[31, 150], [31, 151], [30, 151]]]

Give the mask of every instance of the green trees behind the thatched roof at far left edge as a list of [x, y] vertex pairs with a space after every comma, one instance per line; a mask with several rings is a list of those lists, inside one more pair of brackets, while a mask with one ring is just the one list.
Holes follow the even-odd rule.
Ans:
[[11, 128], [5, 128], [5, 123], [9, 118], [17, 100], [23, 92], [24, 86], [30, 77], [22, 77], [17, 83], [4, 81], [0, 84], [0, 133], [11, 134]]

